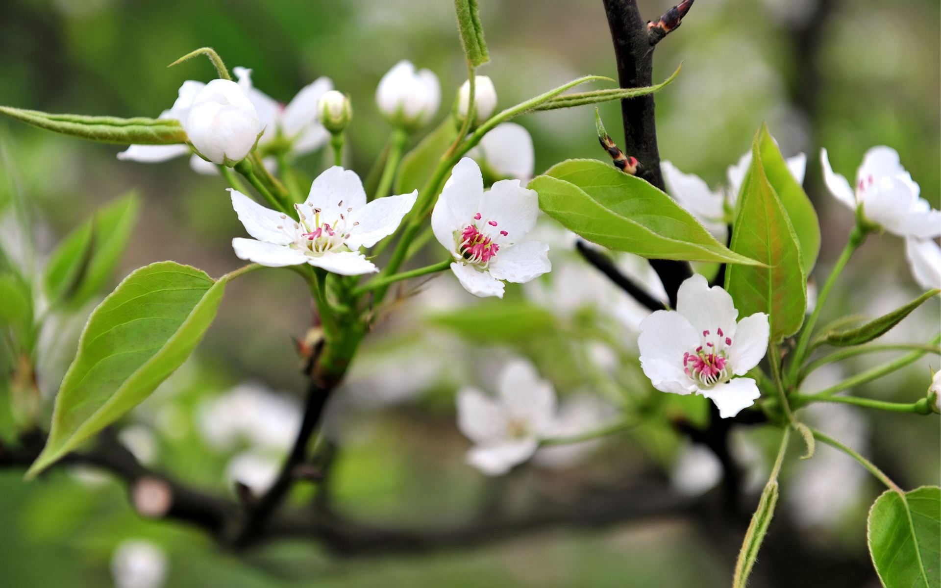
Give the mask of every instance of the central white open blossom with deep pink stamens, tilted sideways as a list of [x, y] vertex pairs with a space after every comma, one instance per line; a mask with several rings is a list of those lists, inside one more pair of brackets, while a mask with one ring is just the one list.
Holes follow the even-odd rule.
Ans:
[[451, 270], [477, 296], [503, 296], [501, 280], [524, 283], [552, 268], [549, 246], [523, 241], [539, 212], [534, 190], [501, 180], [484, 191], [480, 167], [465, 157], [444, 184], [431, 227], [451, 252]]

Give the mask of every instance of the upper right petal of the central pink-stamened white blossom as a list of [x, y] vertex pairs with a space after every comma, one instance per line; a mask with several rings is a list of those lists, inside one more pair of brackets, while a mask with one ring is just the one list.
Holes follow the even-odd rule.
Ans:
[[518, 180], [501, 180], [484, 193], [477, 212], [481, 215], [477, 226], [486, 227], [495, 243], [519, 243], [535, 227], [539, 196]]

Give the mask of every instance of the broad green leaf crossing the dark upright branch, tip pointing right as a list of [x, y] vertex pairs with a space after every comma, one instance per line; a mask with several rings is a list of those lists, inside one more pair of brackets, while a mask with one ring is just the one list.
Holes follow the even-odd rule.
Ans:
[[564, 161], [529, 187], [546, 214], [615, 251], [662, 260], [758, 263], [716, 241], [661, 190], [597, 160]]

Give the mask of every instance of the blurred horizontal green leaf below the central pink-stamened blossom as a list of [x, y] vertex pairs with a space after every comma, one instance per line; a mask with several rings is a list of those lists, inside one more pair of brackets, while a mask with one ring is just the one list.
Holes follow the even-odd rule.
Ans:
[[487, 301], [460, 311], [439, 312], [427, 321], [474, 342], [522, 342], [557, 332], [549, 310], [517, 300]]

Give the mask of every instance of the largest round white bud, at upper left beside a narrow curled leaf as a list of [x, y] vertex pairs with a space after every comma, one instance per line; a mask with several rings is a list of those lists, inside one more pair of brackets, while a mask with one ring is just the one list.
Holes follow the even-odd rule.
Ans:
[[219, 165], [244, 159], [262, 131], [255, 106], [231, 80], [206, 84], [182, 122], [193, 147]]

